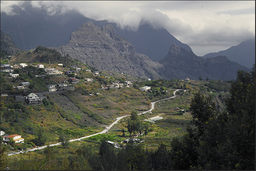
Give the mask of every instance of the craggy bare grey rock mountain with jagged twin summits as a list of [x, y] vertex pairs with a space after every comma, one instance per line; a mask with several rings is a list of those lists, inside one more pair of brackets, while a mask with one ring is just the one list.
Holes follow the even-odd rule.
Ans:
[[112, 25], [102, 28], [87, 22], [73, 32], [67, 45], [54, 48], [98, 70], [126, 73], [141, 78], [162, 78], [155, 70], [161, 67], [148, 56], [138, 54], [132, 44], [117, 36]]

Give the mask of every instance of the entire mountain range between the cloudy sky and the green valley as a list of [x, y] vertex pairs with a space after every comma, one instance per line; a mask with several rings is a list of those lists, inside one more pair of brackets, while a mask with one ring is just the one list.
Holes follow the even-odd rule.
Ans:
[[[201, 75], [203, 79], [230, 80], [236, 78], [237, 70], [251, 68], [249, 64], [252, 65], [253, 60], [249, 54], [253, 55], [253, 50], [255, 56], [255, 39], [254, 44], [248, 41], [246, 45], [224, 50], [231, 55], [210, 53], [199, 57], [166, 29], [155, 29], [148, 24], [141, 25], [134, 32], [122, 30], [115, 23], [110, 25], [106, 20], [86, 18], [76, 12], [48, 16], [43, 9], [35, 11], [29, 6], [26, 10], [14, 10], [21, 15], [1, 14], [0, 20], [1, 30], [10, 35], [14, 45], [24, 50], [38, 45], [55, 48], [63, 55], [68, 53], [72, 58], [98, 70], [115, 70], [152, 79], [198, 79]], [[2, 41], [3, 32], [1, 50], [6, 47], [2, 46], [3, 42], [6, 43], [6, 39]], [[7, 44], [11, 45], [11, 42]], [[237, 58], [232, 59], [234, 54], [240, 52], [243, 54], [238, 58], [242, 58], [240, 62], [250, 61], [249, 64], [242, 63], [247, 67], [239, 65], [241, 63], [237, 63]]]

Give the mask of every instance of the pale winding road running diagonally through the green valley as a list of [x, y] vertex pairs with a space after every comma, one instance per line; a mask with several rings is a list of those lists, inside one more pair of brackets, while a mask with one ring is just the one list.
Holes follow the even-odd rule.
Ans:
[[[176, 93], [177, 91], [179, 91], [179, 90], [180, 90], [180, 89], [175, 90], [174, 93], [173, 93], [173, 96], [170, 97], [170, 98], [175, 98], [175, 97], [176, 97], [175, 93]], [[165, 98], [165, 99], [162, 99], [162, 100], [159, 100], [159, 101], [163, 101], [163, 100], [167, 100], [167, 99], [169, 99], [169, 98]], [[149, 109], [149, 110], [146, 111], [146, 112], [139, 113], [138, 115], [151, 112], [153, 109], [155, 109], [155, 103], [156, 103], [156, 102], [158, 102], [158, 101], [155, 101], [155, 102], [152, 102], [152, 103], [151, 103], [151, 109]], [[130, 116], [130, 115], [125, 115], [125, 116], [121, 116], [121, 117], [116, 118], [116, 121], [113, 122], [110, 126], [107, 126], [106, 129], [104, 129], [104, 131], [102, 131], [102, 132], [98, 132], [98, 133], [93, 134], [93, 135], [88, 135], [88, 136], [86, 136], [86, 137], [81, 137], [81, 138], [73, 139], [73, 140], [70, 140], [70, 142], [78, 141], [78, 140], [81, 140], [81, 139], [84, 139], [84, 138], [88, 138], [88, 137], [91, 137], [91, 136], [94, 136], [94, 135], [98, 135], [98, 134], [104, 134], [104, 133], [106, 133], [108, 130], [110, 130], [113, 125], [115, 125], [116, 123], [118, 123], [118, 121], [120, 121], [120, 119], [125, 118], [125, 117], [127, 117], [127, 116]], [[59, 145], [61, 145], [61, 143], [50, 144], [49, 146], [51, 147], [51, 146], [59, 146]], [[47, 146], [41, 146], [41, 147], [38, 147], [38, 148], [29, 149], [28, 151], [35, 151], [35, 150], [39, 150], [39, 149], [44, 149], [44, 148], [46, 148], [46, 147], [47, 147]], [[27, 151], [25, 151], [25, 152], [27, 152]], [[21, 152], [21, 153], [23, 153], [23, 152]], [[15, 155], [15, 154], [20, 154], [20, 152], [10, 153], [10, 154], [7, 154], [7, 156], [11, 156], [11, 155]]]

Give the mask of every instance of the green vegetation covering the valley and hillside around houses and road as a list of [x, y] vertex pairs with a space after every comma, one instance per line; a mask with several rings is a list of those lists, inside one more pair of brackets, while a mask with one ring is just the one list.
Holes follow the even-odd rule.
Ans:
[[[39, 51], [54, 53], [39, 47], [35, 54]], [[59, 77], [35, 77], [45, 71], [32, 66], [15, 72], [20, 76], [8, 78], [1, 72], [1, 93], [13, 96], [1, 96], [0, 129], [9, 135], [22, 135], [25, 143], [1, 143], [1, 170], [255, 170], [255, 65], [250, 73], [238, 71], [236, 80], [228, 82], [140, 80], [134, 87], [106, 90], [98, 88], [137, 78], [107, 72], [93, 76], [80, 71], [77, 77], [94, 81], [75, 84], [75, 91], [48, 94], [38, 106], [15, 101], [15, 95], [45, 92], [45, 85], [57, 84]], [[23, 81], [32, 86], [26, 91], [13, 88]], [[152, 89], [139, 91], [143, 86]], [[137, 115], [150, 109], [150, 102], [171, 97], [174, 89], [182, 89], [177, 98], [158, 102], [152, 113]], [[89, 95], [95, 93], [100, 95]], [[67, 101], [73, 106], [65, 109], [62, 106], [68, 105]], [[175, 110], [177, 107], [184, 111]], [[131, 116], [120, 120], [108, 134], [69, 142], [101, 132], [123, 115]], [[163, 120], [143, 121], [156, 115]], [[106, 143], [110, 140], [124, 145], [123, 140], [136, 133], [143, 133], [138, 137], [143, 143], [129, 141], [119, 149]], [[9, 151], [56, 142], [62, 146], [6, 156]]]

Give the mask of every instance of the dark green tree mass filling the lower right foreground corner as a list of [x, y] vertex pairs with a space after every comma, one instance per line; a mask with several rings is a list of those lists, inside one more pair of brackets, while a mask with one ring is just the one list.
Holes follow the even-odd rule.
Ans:
[[227, 111], [205, 122], [198, 147], [200, 170], [255, 170], [255, 64], [231, 81]]

